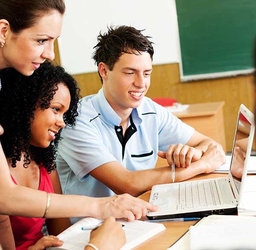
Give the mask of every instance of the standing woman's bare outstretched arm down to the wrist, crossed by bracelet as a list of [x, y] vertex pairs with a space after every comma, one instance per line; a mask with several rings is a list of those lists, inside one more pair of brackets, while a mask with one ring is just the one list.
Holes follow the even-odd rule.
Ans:
[[[6, 157], [0, 144], [0, 214], [42, 217], [47, 204], [47, 193], [15, 185], [12, 182]], [[51, 194], [47, 218], [93, 216], [96, 198], [76, 195]]]

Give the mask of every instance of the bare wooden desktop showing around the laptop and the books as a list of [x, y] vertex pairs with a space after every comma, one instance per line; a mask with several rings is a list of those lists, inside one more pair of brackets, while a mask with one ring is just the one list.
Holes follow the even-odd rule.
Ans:
[[[227, 176], [227, 173], [209, 173], [201, 174], [190, 180], [206, 179], [206, 178], [217, 178]], [[148, 202], [150, 198], [150, 192], [143, 193], [139, 196], [140, 199], [143, 199]], [[135, 247], [134, 250], [166, 250], [170, 247], [177, 239], [180, 238], [190, 226], [195, 224], [197, 221], [192, 222], [165, 222], [163, 223], [166, 227], [166, 230], [155, 235], [151, 239], [143, 242], [139, 246]]]

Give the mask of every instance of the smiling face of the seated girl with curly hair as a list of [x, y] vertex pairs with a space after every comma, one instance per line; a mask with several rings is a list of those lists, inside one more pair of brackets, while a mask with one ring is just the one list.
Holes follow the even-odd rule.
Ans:
[[36, 147], [47, 148], [60, 128], [65, 127], [63, 116], [69, 109], [70, 91], [63, 83], [58, 84], [58, 90], [50, 102], [50, 107], [44, 111], [36, 108], [35, 118], [31, 123], [31, 139], [29, 143]]

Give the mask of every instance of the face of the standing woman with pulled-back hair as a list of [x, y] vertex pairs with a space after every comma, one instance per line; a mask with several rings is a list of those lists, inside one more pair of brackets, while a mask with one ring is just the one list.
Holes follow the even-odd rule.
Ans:
[[29, 76], [45, 60], [53, 60], [53, 43], [61, 34], [62, 19], [58, 11], [52, 11], [38, 18], [34, 26], [23, 29], [17, 35], [8, 27], [2, 49], [5, 68], [12, 67]]

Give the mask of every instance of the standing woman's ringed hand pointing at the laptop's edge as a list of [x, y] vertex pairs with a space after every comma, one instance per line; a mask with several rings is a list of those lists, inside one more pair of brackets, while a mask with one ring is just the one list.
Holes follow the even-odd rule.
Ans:
[[96, 200], [96, 210], [93, 214], [93, 217], [97, 219], [106, 219], [113, 216], [114, 218], [126, 218], [128, 221], [133, 221], [146, 216], [147, 210], [160, 210], [159, 207], [135, 198], [128, 193], [97, 199], [99, 200]]

